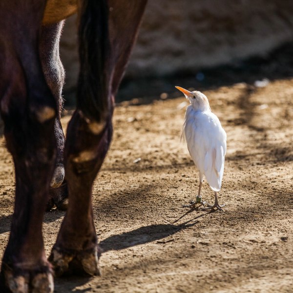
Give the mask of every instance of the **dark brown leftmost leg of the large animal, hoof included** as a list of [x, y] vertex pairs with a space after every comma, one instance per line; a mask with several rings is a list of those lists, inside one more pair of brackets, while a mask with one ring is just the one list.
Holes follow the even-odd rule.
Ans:
[[15, 165], [15, 209], [3, 255], [0, 292], [52, 293], [42, 220], [56, 159], [56, 101], [38, 40], [45, 1], [1, 1], [0, 111]]

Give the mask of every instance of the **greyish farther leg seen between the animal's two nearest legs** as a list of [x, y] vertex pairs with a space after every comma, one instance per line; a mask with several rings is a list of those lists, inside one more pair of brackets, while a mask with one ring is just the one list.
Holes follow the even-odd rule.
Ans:
[[[63, 150], [65, 137], [61, 125], [63, 106], [62, 88], [64, 84], [64, 68], [59, 56], [59, 41], [64, 21], [43, 25], [40, 36], [40, 58], [46, 82], [56, 100], [58, 113], [55, 121], [54, 132], [57, 141], [57, 160], [51, 180], [50, 200], [47, 210], [55, 204], [58, 209], [67, 207], [67, 185], [64, 179]], [[62, 186], [61, 186], [62, 185]]]

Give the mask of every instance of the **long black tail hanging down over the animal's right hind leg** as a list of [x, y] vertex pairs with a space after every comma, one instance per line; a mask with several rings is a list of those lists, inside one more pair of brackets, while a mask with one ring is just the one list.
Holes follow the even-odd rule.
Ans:
[[106, 0], [83, 0], [79, 23], [80, 73], [77, 106], [98, 122], [108, 115], [109, 62], [108, 5]]

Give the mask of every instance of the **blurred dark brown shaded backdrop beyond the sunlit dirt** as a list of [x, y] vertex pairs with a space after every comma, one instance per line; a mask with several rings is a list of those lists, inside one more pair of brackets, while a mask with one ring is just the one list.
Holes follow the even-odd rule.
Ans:
[[[292, 0], [149, 0], [117, 102], [293, 76]], [[75, 104], [76, 16], [61, 40], [65, 105]]]

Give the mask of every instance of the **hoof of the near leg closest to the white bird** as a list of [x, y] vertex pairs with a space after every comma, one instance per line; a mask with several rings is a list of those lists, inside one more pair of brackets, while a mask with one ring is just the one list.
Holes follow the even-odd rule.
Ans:
[[61, 275], [100, 275], [99, 249], [86, 251], [64, 251], [54, 247], [49, 261], [52, 263], [56, 276]]

